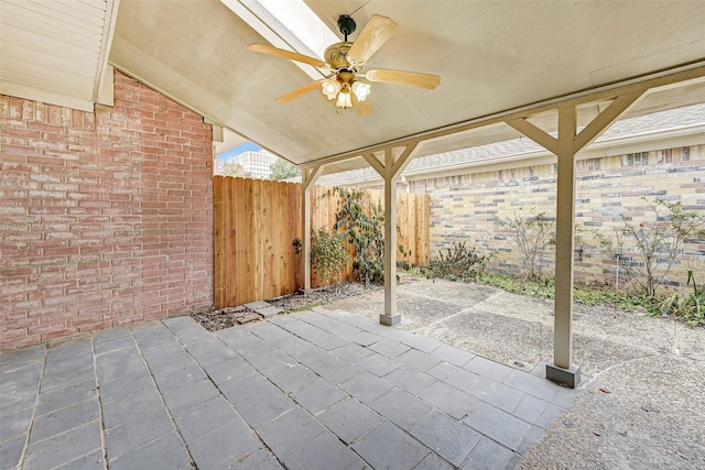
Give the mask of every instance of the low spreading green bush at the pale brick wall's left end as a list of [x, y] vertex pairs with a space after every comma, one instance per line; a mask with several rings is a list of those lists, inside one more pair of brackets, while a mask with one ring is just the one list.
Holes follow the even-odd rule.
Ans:
[[438, 256], [422, 267], [426, 277], [441, 277], [449, 281], [474, 281], [484, 272], [492, 255], [479, 255], [475, 248], [468, 249], [465, 242], [453, 242], [453, 248], [447, 253], [438, 252]]

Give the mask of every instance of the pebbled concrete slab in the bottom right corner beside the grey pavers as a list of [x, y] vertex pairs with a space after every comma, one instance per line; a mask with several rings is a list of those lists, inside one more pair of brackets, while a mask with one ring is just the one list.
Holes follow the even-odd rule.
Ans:
[[705, 363], [616, 365], [581, 390], [518, 469], [705, 469]]

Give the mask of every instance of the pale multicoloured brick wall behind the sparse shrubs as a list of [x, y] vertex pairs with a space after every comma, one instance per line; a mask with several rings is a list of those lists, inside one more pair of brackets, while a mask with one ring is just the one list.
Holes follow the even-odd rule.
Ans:
[[[616, 264], [594, 247], [593, 231], [614, 233], [623, 225], [621, 216], [637, 223], [644, 220], [649, 211], [644, 197], [680, 200], [685, 209], [705, 216], [705, 145], [583, 160], [576, 165], [576, 229], [586, 243], [582, 255], [576, 253], [575, 258], [577, 282], [615, 283]], [[412, 190], [431, 195], [432, 256], [454, 241], [466, 241], [479, 253], [496, 253], [489, 266], [494, 271], [521, 272], [519, 249], [495, 222], [495, 216], [511, 217], [519, 208], [524, 214], [555, 215], [554, 164], [414, 181], [411, 185]], [[581, 245], [576, 243], [576, 248]], [[544, 275], [553, 273], [553, 256], [552, 247], [542, 251]], [[705, 282], [705, 240], [686, 243], [668, 284], [685, 285], [687, 270], [695, 270], [699, 282]]]

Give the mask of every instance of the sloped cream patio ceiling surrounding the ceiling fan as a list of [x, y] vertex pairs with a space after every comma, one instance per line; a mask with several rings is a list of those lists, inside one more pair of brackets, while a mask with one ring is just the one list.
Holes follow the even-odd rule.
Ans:
[[[3, 11], [18, 1], [0, 0]], [[367, 117], [337, 112], [317, 91], [279, 103], [276, 97], [316, 75], [248, 51], [251, 43], [301, 46], [282, 33], [281, 21], [262, 13], [258, 0], [121, 0], [115, 29], [106, 23], [112, 39], [105, 34], [102, 44], [108, 43], [116, 68], [296, 164], [705, 64], [701, 1], [305, 3], [336, 34], [338, 15], [351, 14], [358, 23], [351, 41], [372, 14], [393, 19], [398, 33], [369, 65], [437, 74], [441, 86], [425, 90], [373, 84], [375, 112]], [[35, 19], [41, 14], [35, 12]], [[2, 21], [4, 48], [14, 32], [6, 28], [4, 15]], [[72, 73], [88, 74], [82, 72], [86, 67], [78, 63]], [[90, 74], [95, 78], [96, 70]], [[705, 102], [702, 79], [682, 85], [648, 96], [629, 116]], [[595, 116], [599, 106], [583, 108], [581, 119]], [[545, 119], [547, 130], [554, 121], [536, 119]], [[507, 125], [492, 125], [434, 140], [419, 155], [516, 135]], [[365, 165], [355, 159], [334, 170]]]

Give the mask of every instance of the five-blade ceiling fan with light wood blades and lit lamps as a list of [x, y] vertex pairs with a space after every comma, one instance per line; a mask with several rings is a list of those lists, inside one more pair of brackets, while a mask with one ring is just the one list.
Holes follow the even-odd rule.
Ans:
[[324, 53], [326, 62], [265, 44], [249, 45], [248, 48], [252, 52], [302, 62], [314, 67], [327, 68], [330, 72], [327, 77], [296, 88], [276, 98], [276, 101], [289, 102], [321, 88], [328, 100], [336, 101], [337, 108], [355, 108], [359, 116], [367, 116], [373, 111], [368, 98], [371, 86], [361, 81], [361, 78], [373, 83], [409, 85], [426, 89], [434, 89], [441, 84], [441, 77], [437, 75], [367, 68], [367, 61], [399, 29], [391, 19], [373, 14], [355, 42], [348, 42], [348, 34], [354, 33], [356, 29], [352, 18], [341, 14], [338, 18], [338, 28], [345, 36], [345, 41], [332, 44], [326, 48]]

